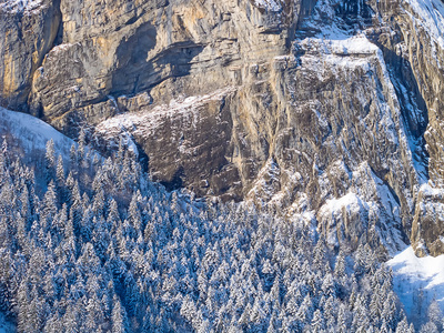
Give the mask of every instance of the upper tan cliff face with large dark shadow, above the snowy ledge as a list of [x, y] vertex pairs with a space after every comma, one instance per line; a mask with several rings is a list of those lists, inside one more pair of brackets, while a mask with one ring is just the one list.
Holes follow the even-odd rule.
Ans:
[[63, 44], [33, 75], [30, 109], [69, 131], [115, 113], [110, 97], [167, 102], [241, 83], [246, 62], [287, 52], [299, 4], [238, 2], [61, 1]]

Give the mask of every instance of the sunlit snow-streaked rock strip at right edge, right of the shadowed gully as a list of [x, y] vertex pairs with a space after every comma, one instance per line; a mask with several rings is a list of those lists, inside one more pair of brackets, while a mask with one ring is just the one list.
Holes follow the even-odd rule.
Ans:
[[[394, 50], [401, 56], [402, 65], [408, 65], [414, 80], [407, 78], [413, 93], [421, 95], [421, 119], [413, 127], [422, 132], [428, 161], [428, 184], [424, 184], [418, 194], [411, 239], [417, 254], [427, 251], [433, 255], [444, 253], [444, 205], [443, 205], [443, 61], [444, 6], [442, 1], [406, 1], [398, 3], [397, 26], [400, 41]], [[390, 40], [389, 38], [386, 39]], [[393, 41], [390, 41], [393, 43]], [[408, 95], [408, 93], [404, 93]], [[410, 93], [412, 94], [412, 92]], [[408, 110], [408, 109], [407, 109]], [[407, 114], [407, 121], [414, 117]]]

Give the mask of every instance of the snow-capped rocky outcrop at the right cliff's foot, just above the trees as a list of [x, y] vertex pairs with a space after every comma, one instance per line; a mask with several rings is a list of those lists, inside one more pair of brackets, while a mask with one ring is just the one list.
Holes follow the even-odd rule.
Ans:
[[[327, 178], [329, 174], [321, 176], [321, 186], [330, 186]], [[404, 249], [401, 208], [387, 185], [365, 162], [351, 172], [349, 181], [349, 192], [327, 199], [317, 212], [319, 225], [329, 244], [339, 246], [346, 234], [364, 238], [365, 242], [369, 231], [373, 230], [390, 254]]]

